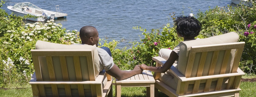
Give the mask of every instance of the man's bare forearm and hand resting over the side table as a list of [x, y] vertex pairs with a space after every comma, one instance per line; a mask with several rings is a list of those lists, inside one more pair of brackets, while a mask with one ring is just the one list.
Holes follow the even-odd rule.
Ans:
[[138, 65], [136, 65], [134, 69], [131, 71], [125, 71], [125, 70], [119, 69], [119, 67], [116, 64], [114, 64], [113, 67], [106, 72], [118, 80], [123, 80], [133, 75], [141, 74], [142, 71], [143, 69], [141, 69]]

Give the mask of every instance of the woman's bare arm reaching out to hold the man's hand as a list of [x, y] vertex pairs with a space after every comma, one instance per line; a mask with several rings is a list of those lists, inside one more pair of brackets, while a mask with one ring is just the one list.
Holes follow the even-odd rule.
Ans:
[[170, 57], [168, 58], [168, 60], [165, 62], [165, 64], [161, 67], [152, 67], [152, 66], [147, 66], [145, 64], [141, 64], [139, 65], [140, 68], [144, 69], [144, 70], [150, 70], [153, 72], [160, 72], [160, 73], [164, 73], [166, 72], [168, 69], [171, 68], [172, 64], [175, 62], [175, 60], [178, 58], [179, 56], [177, 55], [176, 52], [172, 51], [170, 54]]

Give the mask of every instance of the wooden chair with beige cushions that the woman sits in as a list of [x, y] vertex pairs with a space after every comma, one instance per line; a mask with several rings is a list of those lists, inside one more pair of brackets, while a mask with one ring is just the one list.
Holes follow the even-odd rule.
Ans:
[[[235, 32], [180, 43], [179, 61], [165, 73], [155, 73], [159, 89], [170, 97], [239, 97], [244, 72], [238, 68], [244, 42]], [[153, 57], [156, 66], [166, 60]]]

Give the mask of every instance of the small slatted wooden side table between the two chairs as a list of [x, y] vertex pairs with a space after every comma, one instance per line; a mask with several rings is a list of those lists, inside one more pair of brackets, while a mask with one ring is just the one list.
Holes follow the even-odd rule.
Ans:
[[147, 97], [154, 97], [155, 79], [151, 71], [144, 70], [142, 74], [121, 81], [116, 79], [116, 97], [121, 97], [121, 87], [147, 87]]

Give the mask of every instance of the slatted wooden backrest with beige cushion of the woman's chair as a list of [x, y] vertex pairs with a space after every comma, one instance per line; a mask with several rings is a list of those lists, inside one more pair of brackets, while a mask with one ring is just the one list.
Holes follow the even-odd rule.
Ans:
[[244, 49], [239, 35], [223, 35], [180, 43], [177, 69], [186, 78], [236, 72]]

